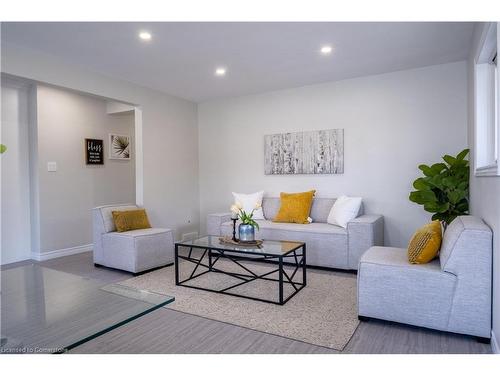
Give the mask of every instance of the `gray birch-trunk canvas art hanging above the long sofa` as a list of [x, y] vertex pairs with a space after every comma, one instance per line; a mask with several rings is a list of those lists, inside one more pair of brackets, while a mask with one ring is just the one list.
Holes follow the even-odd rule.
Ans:
[[344, 173], [344, 129], [264, 136], [265, 174]]

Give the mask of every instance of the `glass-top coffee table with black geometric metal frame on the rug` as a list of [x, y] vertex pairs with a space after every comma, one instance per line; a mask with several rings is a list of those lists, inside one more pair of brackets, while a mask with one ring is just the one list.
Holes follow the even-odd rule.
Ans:
[[306, 244], [264, 240], [250, 247], [218, 236], [177, 242], [175, 283], [284, 305], [306, 286]]

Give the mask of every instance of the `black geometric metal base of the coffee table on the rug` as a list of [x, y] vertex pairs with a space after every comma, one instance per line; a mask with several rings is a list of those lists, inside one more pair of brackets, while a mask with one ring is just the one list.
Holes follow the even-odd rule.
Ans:
[[[180, 253], [180, 250], [185, 250], [183, 254]], [[193, 251], [193, 249], [198, 249], [198, 251]], [[184, 254], [187, 253], [187, 254]], [[201, 253], [201, 255], [200, 255]], [[249, 256], [250, 255], [250, 256]], [[183, 265], [191, 265], [192, 270], [189, 273], [189, 276], [180, 280], [179, 276], [179, 260], [183, 260]], [[220, 259], [227, 259], [231, 263], [238, 266], [240, 272], [231, 272], [224, 270], [222, 268], [217, 267], [217, 262]], [[252, 271], [250, 269], [250, 265], [245, 265], [247, 262], [266, 262], [266, 264], [271, 267], [271, 269], [264, 273], [258, 273], [256, 271]], [[285, 267], [292, 268], [291, 270], [286, 270]], [[198, 272], [197, 272], [198, 271]], [[195, 285], [187, 284], [189, 281], [196, 279], [202, 275], [206, 275], [209, 272], [220, 273], [223, 275], [230, 276], [234, 279], [234, 283], [230, 285], [225, 285], [219, 289], [210, 288], [210, 286], [201, 287]], [[202, 247], [202, 246], [193, 246], [191, 244], [183, 244], [176, 243], [175, 244], [175, 284], [205, 290], [214, 293], [227, 294], [230, 296], [242, 297], [251, 299], [254, 301], [268, 302], [274, 303], [277, 305], [284, 305], [287, 301], [289, 301], [293, 296], [295, 296], [302, 288], [304, 288], [307, 284], [307, 275], [306, 275], [306, 245], [304, 243], [299, 243], [297, 248], [290, 250], [285, 254], [258, 254], [258, 253], [250, 253], [247, 252], [235, 252], [233, 250], [227, 249], [218, 249], [212, 247]], [[300, 277], [300, 273], [302, 273], [302, 277]], [[277, 278], [271, 277], [272, 275], [277, 274]], [[297, 275], [301, 281], [295, 281], [294, 278]], [[243, 294], [236, 293], [234, 291], [235, 288], [252, 283], [256, 280], [265, 280], [270, 283], [276, 283], [277, 286], [277, 299], [267, 299], [267, 298], [258, 298], [247, 296]], [[292, 293], [286, 298], [283, 294], [283, 286], [289, 285], [292, 287]]]

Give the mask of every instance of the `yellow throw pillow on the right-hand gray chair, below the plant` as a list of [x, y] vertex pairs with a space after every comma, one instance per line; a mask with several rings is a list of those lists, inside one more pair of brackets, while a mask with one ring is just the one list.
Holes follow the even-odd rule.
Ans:
[[441, 247], [441, 223], [435, 220], [418, 229], [408, 245], [408, 260], [413, 264], [429, 263]]

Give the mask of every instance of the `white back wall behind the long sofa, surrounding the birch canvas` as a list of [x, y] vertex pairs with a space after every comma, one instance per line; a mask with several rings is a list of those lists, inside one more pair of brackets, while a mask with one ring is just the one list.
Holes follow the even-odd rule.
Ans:
[[[467, 146], [466, 63], [202, 103], [200, 205], [225, 212], [231, 191], [267, 195], [316, 189], [317, 196], [361, 196], [385, 217], [387, 245], [406, 246], [430, 219], [408, 200], [421, 163]], [[344, 174], [264, 175], [264, 135], [344, 128]]]

